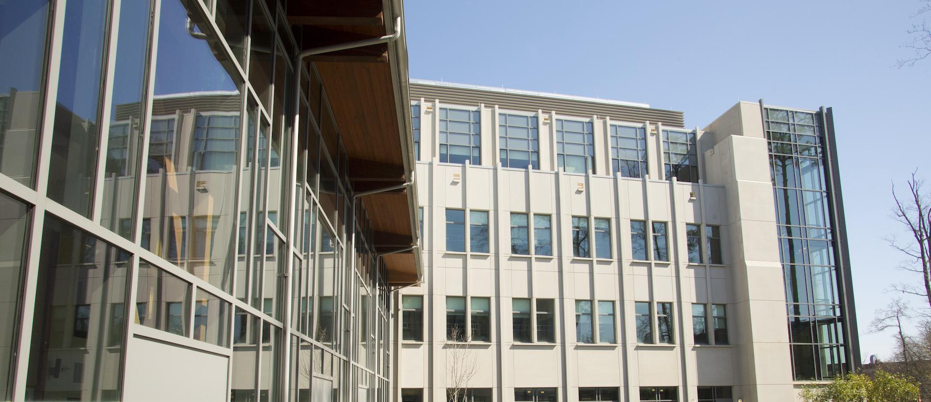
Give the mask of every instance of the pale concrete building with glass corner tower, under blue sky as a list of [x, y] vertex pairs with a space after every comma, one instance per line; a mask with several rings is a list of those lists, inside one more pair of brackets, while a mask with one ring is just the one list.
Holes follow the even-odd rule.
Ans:
[[857, 368], [830, 109], [412, 83], [403, 402], [788, 401]]

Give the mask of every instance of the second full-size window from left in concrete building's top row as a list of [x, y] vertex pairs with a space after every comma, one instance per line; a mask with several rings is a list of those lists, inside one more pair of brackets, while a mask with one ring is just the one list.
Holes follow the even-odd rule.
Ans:
[[535, 116], [498, 114], [498, 132], [501, 166], [540, 168], [540, 144]]

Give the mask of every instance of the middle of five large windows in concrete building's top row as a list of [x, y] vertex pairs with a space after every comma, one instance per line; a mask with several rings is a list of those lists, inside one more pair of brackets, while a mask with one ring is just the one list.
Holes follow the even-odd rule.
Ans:
[[556, 120], [557, 164], [571, 173], [595, 173], [595, 139], [591, 122]]

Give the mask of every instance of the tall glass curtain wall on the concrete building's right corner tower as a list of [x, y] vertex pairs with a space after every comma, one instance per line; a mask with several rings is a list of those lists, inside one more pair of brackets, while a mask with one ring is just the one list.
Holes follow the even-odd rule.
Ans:
[[849, 371], [820, 113], [765, 109], [795, 380]]

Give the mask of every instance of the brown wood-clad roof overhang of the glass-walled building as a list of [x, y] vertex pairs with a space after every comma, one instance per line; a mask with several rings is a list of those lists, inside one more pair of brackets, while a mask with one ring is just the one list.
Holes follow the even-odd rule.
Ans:
[[[395, 32], [401, 0], [292, 0], [288, 20], [303, 37], [302, 50]], [[317, 54], [317, 66], [348, 156], [357, 194], [414, 181], [413, 135], [406, 37], [393, 42]], [[360, 197], [369, 211], [373, 243], [385, 254], [390, 286], [421, 281], [416, 184]], [[413, 249], [411, 249], [413, 248]], [[407, 249], [401, 252], [397, 250]], [[393, 252], [393, 253], [392, 253]]]

